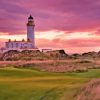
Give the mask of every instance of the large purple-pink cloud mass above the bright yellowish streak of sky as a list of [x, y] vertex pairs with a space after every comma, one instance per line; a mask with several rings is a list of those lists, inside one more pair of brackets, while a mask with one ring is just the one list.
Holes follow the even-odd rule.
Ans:
[[100, 1], [94, 0], [1, 0], [0, 29], [10, 33], [25, 30], [31, 13], [37, 31], [96, 30], [100, 27], [99, 9]]

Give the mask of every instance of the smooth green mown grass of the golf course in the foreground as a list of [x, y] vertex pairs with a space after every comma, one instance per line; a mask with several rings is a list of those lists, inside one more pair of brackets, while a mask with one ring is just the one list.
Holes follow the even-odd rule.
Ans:
[[100, 69], [84, 73], [48, 73], [1, 68], [0, 100], [76, 100], [80, 87], [100, 77]]

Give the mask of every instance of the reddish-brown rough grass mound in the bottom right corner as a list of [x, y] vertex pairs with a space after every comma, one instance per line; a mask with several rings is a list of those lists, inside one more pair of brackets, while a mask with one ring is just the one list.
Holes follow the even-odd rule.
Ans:
[[86, 84], [77, 100], [100, 100], [100, 79], [91, 80]]

